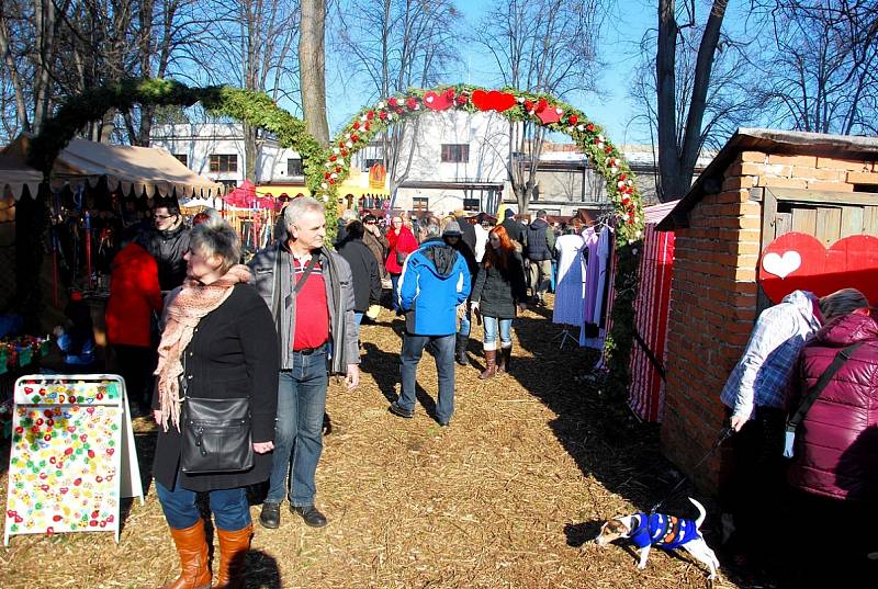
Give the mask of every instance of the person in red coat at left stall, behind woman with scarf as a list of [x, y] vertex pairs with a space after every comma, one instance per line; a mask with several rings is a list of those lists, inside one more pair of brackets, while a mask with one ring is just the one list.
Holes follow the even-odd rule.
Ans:
[[161, 313], [162, 301], [156, 259], [135, 243], [135, 237], [133, 228], [126, 229], [122, 239], [127, 245], [113, 258], [106, 339], [125, 378], [128, 399], [148, 412], [158, 360], [151, 336], [153, 315]]

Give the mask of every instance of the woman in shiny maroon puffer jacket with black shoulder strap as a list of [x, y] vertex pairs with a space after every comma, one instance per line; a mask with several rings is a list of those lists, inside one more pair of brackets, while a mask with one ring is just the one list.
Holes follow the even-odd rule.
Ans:
[[[871, 315], [871, 316], [870, 316]], [[878, 321], [868, 308], [830, 320], [799, 354], [788, 409], [792, 415], [836, 354], [859, 348], [835, 372], [796, 432], [788, 479], [795, 491], [791, 519], [799, 522], [796, 552], [831, 580], [878, 574]], [[867, 555], [873, 555], [867, 558]], [[831, 566], [828, 566], [831, 565]], [[871, 573], [869, 573], [871, 567]], [[840, 577], [841, 575], [841, 577]], [[864, 577], [859, 576], [859, 579]]]

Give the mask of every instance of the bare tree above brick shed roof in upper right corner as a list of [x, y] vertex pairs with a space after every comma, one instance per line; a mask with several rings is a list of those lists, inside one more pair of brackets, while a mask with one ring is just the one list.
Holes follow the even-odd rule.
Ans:
[[777, 0], [762, 102], [774, 125], [815, 133], [878, 132], [878, 2]]

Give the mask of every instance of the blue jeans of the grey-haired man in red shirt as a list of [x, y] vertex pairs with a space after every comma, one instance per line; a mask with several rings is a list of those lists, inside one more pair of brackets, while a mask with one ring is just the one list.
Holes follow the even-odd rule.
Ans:
[[314, 505], [314, 475], [323, 453], [323, 415], [329, 383], [327, 348], [307, 355], [294, 352], [292, 370], [280, 374], [274, 456], [266, 502], [281, 503], [286, 495], [290, 505]]

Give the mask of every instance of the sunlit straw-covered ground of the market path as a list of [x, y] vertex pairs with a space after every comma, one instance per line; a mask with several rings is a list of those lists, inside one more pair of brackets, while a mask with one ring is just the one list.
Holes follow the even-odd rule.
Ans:
[[[279, 530], [257, 524], [248, 588], [708, 586], [685, 553], [653, 551], [641, 571], [624, 544], [588, 542], [603, 520], [648, 510], [676, 475], [657, 453], [655, 431], [609, 410], [599, 387], [579, 378], [594, 358], [570, 346], [559, 351], [549, 309], [516, 321], [511, 374], [487, 382], [477, 380], [475, 328], [475, 366], [458, 369], [448, 429], [430, 417], [437, 384], [427, 354], [415, 419], [387, 412], [402, 327], [386, 314], [364, 326], [359, 389], [331, 385], [331, 433], [317, 472], [329, 526], [306, 528], [285, 507]], [[149, 485], [153, 429], [139, 418], [135, 430]], [[5, 473], [0, 488], [4, 505]], [[175, 578], [177, 555], [147, 488], [145, 506], [125, 503], [119, 545], [110, 533], [12, 537], [0, 550], [0, 587], [147, 588]], [[682, 496], [667, 510], [695, 516]], [[256, 520], [259, 506], [251, 512]], [[713, 511], [705, 525], [712, 544], [716, 519]], [[735, 586], [722, 574], [713, 584]]]

